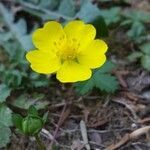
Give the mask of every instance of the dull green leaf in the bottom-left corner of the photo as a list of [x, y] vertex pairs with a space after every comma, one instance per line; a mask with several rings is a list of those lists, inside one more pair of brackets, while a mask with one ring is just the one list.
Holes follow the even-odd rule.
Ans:
[[10, 128], [0, 125], [0, 148], [5, 147], [10, 142], [10, 136]]

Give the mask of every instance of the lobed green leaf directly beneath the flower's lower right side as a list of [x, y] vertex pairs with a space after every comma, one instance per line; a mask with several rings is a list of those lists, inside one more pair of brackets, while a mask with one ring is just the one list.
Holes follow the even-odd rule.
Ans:
[[91, 91], [94, 87], [108, 93], [115, 92], [118, 88], [118, 81], [114, 76], [109, 74], [113, 68], [114, 65], [112, 63], [106, 62], [103, 67], [93, 72], [89, 80], [76, 83], [75, 90], [81, 95]]

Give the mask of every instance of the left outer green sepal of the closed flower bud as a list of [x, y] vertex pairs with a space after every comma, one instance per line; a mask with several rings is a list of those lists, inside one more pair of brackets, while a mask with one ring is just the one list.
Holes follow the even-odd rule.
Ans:
[[23, 117], [19, 114], [13, 114], [12, 120], [13, 120], [13, 124], [16, 126], [16, 128], [18, 128], [21, 131]]

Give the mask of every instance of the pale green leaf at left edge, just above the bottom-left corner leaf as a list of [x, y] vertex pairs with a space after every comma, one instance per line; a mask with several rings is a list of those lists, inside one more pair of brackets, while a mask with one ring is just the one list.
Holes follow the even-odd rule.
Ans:
[[12, 112], [4, 104], [0, 104], [0, 125], [6, 127], [12, 125]]

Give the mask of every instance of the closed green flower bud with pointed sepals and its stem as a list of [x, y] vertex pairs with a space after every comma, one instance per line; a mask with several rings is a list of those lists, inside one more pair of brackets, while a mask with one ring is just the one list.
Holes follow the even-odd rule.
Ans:
[[47, 116], [48, 113], [45, 113], [43, 117], [40, 117], [37, 109], [34, 106], [30, 106], [26, 117], [22, 117], [19, 114], [13, 114], [13, 123], [22, 134], [34, 136], [40, 150], [46, 150], [39, 138], [39, 132], [46, 123]]

